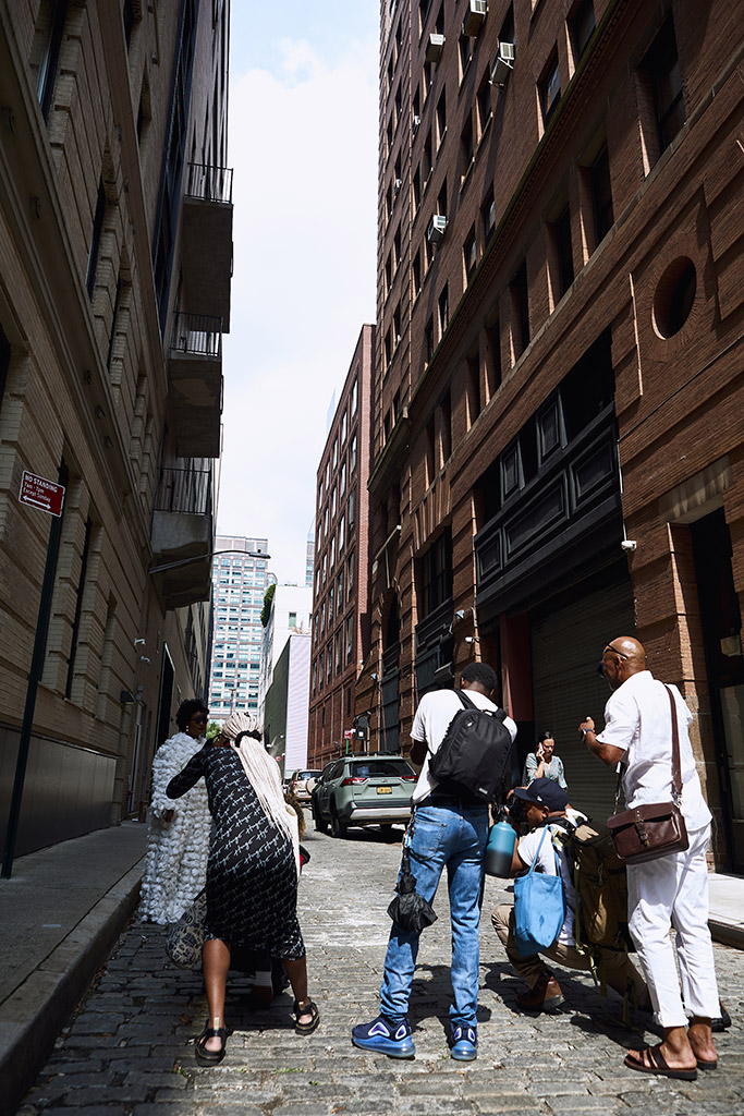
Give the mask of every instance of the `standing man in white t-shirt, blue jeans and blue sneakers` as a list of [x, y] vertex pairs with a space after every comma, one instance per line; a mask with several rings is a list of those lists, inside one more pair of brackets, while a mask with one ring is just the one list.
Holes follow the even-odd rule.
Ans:
[[[490, 699], [496, 685], [494, 671], [485, 663], [471, 663], [461, 675], [460, 686], [481, 709], [495, 712]], [[453, 795], [439, 787], [429, 775], [428, 760], [446, 734], [463, 703], [454, 690], [436, 690], [422, 698], [410, 735], [410, 762], [421, 767], [413, 795], [416, 807], [410, 867], [416, 893], [433, 902], [442, 873], [447, 868], [447, 888], [452, 915], [452, 988], [450, 1009], [451, 1055], [458, 1061], [477, 1056], [479, 931], [483, 898], [483, 852], [489, 837], [489, 807], [467, 795]], [[516, 725], [504, 719], [512, 742]], [[370, 1023], [351, 1030], [351, 1041], [363, 1050], [386, 1054], [390, 1058], [413, 1058], [415, 1047], [408, 1022], [408, 999], [416, 968], [419, 935], [396, 923], [385, 958], [380, 988], [380, 1013]]]

